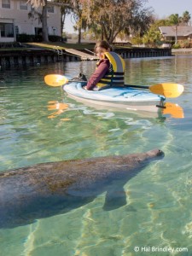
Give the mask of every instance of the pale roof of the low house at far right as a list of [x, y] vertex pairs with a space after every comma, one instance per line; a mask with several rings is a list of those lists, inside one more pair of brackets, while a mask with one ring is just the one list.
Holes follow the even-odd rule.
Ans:
[[[176, 26], [160, 26], [160, 32], [165, 37], [175, 37]], [[188, 37], [192, 34], [192, 26], [177, 26], [178, 37]]]

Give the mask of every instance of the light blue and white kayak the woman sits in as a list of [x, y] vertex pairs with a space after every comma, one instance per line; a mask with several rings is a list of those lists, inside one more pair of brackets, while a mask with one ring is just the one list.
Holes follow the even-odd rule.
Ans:
[[84, 82], [70, 82], [62, 88], [67, 96], [77, 102], [98, 107], [157, 113], [161, 111], [166, 100], [165, 96], [156, 95], [147, 90], [137, 90], [131, 87], [84, 90], [85, 84]]

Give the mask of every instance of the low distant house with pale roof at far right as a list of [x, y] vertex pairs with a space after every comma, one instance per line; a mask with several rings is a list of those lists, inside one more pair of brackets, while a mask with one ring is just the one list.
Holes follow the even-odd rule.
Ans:
[[166, 41], [192, 39], [192, 26], [160, 26], [160, 32]]

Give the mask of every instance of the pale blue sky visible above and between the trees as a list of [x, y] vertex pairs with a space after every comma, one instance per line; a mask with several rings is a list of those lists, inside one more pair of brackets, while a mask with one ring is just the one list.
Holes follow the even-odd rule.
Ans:
[[[186, 10], [192, 16], [192, 0], [148, 0], [146, 6], [152, 7], [158, 18], [166, 18], [172, 14], [183, 15]], [[70, 16], [68, 16], [65, 31], [73, 32], [73, 25]]]

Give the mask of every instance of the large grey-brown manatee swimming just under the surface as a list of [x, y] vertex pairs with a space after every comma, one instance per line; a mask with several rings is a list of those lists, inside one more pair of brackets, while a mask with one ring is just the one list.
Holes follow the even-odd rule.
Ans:
[[106, 192], [103, 210], [126, 204], [123, 186], [148, 160], [164, 156], [159, 149], [141, 154], [64, 160], [0, 172], [0, 228], [32, 224], [63, 214]]

